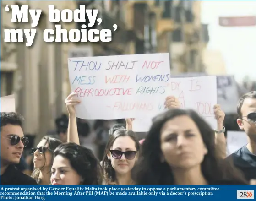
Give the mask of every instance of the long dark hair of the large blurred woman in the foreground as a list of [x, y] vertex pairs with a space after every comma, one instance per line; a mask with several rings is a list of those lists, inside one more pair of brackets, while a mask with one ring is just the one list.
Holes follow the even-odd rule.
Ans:
[[[181, 115], [189, 116], [196, 123], [207, 147], [208, 152], [201, 166], [202, 174], [209, 184], [222, 179], [246, 183], [241, 174], [233, 174], [232, 169], [228, 168], [226, 171], [224, 166], [219, 165], [215, 156], [215, 134], [205, 120], [192, 110], [170, 109], [153, 119], [153, 124], [142, 144], [142, 151], [135, 167], [136, 185], [174, 185], [174, 177], [169, 164], [160, 161], [160, 130], [168, 120]], [[224, 175], [224, 172], [227, 175]]]

